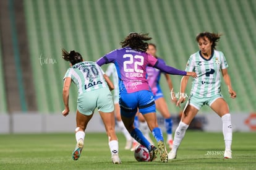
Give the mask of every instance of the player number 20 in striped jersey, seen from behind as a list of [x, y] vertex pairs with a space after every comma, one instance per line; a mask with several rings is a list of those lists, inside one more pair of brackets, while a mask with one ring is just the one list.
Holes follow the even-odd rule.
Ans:
[[75, 138], [77, 145], [72, 153], [74, 160], [79, 159], [83, 149], [85, 129], [93, 116], [95, 108], [98, 108], [101, 119], [105, 125], [106, 134], [109, 138], [109, 148], [114, 164], [121, 163], [118, 155], [118, 142], [114, 131], [114, 104], [110, 90], [114, 85], [96, 62], [83, 61], [82, 56], [75, 52], [68, 53], [62, 49], [62, 57], [70, 62], [70, 68], [64, 76], [63, 101], [65, 105], [63, 116], [69, 114], [69, 87], [74, 82], [78, 88], [77, 99], [77, 128]]

